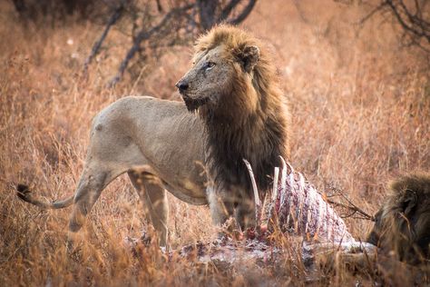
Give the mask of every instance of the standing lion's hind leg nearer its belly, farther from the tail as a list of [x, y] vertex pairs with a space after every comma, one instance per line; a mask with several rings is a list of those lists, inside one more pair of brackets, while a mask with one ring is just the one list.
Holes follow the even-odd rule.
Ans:
[[151, 223], [160, 236], [160, 245], [167, 246], [169, 204], [160, 178], [142, 168], [128, 174], [142, 203], [148, 208]]

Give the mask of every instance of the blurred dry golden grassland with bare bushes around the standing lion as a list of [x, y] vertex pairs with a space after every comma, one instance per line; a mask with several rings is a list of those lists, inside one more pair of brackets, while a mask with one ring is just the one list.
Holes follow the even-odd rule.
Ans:
[[[14, 183], [47, 200], [73, 193], [93, 116], [128, 94], [180, 101], [174, 84], [191, 67], [193, 42], [220, 22], [272, 50], [292, 114], [291, 163], [318, 190], [375, 213], [390, 179], [430, 170], [429, 1], [9, 0], [0, 11], [2, 285], [134, 274], [116, 245], [146, 221], [126, 177], [96, 203], [91, 259], [73, 267], [62, 261], [70, 210], [21, 203]], [[207, 207], [170, 203], [173, 248], [213, 238]], [[371, 222], [346, 221], [366, 237]], [[162, 268], [143, 269], [137, 282], [175, 282]]]

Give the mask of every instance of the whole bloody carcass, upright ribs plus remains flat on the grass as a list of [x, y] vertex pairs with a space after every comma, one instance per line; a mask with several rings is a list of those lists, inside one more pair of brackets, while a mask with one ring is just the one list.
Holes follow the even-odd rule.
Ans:
[[[375, 255], [376, 247], [369, 243], [355, 241], [347, 232], [344, 221], [327, 203], [323, 195], [289, 163], [281, 159], [280, 183], [279, 168], [277, 168], [274, 173], [272, 193], [267, 193], [265, 203], [261, 203], [251, 166], [248, 161], [243, 161], [247, 165], [251, 177], [257, 223], [268, 224], [272, 211], [278, 213], [279, 221], [273, 223], [279, 224], [280, 230], [284, 233], [301, 236], [303, 240], [302, 260], [307, 268], [313, 268], [311, 265], [318, 259], [318, 256], [335, 258], [338, 252], [354, 255], [350, 257], [357, 257], [361, 261], [369, 254]], [[261, 225], [257, 226], [259, 231], [266, 231], [264, 226], [260, 227]], [[171, 252], [170, 255], [176, 253], [185, 258], [193, 258], [198, 262], [223, 263], [227, 266], [243, 260], [285, 261], [286, 252], [268, 240], [267, 235], [269, 234], [270, 229], [266, 233], [259, 234], [260, 236], [249, 237], [243, 241], [236, 241], [225, 236], [215, 242], [186, 245], [177, 252]], [[130, 239], [127, 242], [132, 248], [138, 244]], [[144, 240], [141, 239], [141, 242]]]

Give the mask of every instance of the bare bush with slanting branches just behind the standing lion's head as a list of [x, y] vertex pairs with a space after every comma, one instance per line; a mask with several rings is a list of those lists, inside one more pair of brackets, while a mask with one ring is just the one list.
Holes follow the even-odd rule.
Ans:
[[121, 15], [131, 22], [132, 46], [123, 58], [118, 73], [110, 81], [110, 86], [121, 80], [135, 54], [139, 54], [140, 59], [145, 61], [150, 53], [159, 54], [163, 48], [189, 45], [196, 35], [213, 25], [223, 22], [239, 24], [255, 4], [256, 0], [187, 0], [168, 3], [150, 0], [119, 1], [103, 34], [95, 42], [92, 53], [85, 61], [84, 73], [86, 74], [111, 26]]

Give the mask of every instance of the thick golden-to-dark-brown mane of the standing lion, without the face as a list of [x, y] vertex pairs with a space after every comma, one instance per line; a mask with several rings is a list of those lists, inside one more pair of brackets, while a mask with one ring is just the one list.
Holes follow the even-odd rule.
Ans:
[[[200, 108], [208, 131], [211, 179], [224, 187], [241, 185], [251, 191], [242, 159], [253, 168], [259, 190], [269, 188], [268, 174], [289, 156], [289, 114], [269, 49], [253, 35], [230, 25], [214, 27], [195, 45], [194, 60], [223, 46], [223, 58], [234, 66], [232, 87], [213, 107]], [[258, 62], [249, 67], [249, 47], [258, 47]]]

